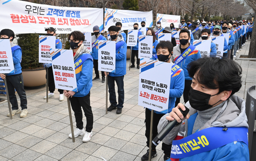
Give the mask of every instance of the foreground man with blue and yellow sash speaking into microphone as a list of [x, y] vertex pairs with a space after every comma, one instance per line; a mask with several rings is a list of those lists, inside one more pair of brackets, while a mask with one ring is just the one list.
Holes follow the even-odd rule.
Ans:
[[[190, 98], [162, 116], [178, 124], [162, 143], [172, 144], [168, 161], [249, 161], [245, 100], [234, 95], [242, 87], [242, 67], [233, 60], [204, 57], [191, 62]], [[227, 82], [232, 82], [227, 83]], [[186, 116], [180, 110], [189, 108]]]

